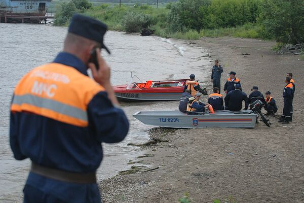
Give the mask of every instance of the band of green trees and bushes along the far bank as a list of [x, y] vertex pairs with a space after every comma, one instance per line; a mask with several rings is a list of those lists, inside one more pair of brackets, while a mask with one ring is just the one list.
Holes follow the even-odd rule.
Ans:
[[71, 0], [62, 5], [55, 23], [65, 24], [75, 12], [96, 17], [112, 29], [137, 32], [152, 28], [162, 37], [243, 26], [254, 27], [257, 38], [283, 44], [304, 42], [304, 0], [179, 0], [163, 9], [137, 4], [93, 8], [87, 0]]

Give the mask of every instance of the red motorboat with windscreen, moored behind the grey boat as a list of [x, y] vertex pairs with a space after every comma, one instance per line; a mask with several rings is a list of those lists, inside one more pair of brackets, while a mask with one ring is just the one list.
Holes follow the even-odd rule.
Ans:
[[148, 80], [133, 76], [129, 84], [113, 86], [115, 95], [123, 101], [179, 100], [188, 79]]

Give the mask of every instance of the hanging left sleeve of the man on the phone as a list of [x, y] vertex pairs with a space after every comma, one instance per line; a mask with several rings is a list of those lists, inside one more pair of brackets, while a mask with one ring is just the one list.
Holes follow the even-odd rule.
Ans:
[[13, 151], [14, 157], [17, 160], [23, 160], [27, 158], [21, 152], [19, 141], [18, 141], [18, 113], [12, 113], [10, 115], [10, 145]]

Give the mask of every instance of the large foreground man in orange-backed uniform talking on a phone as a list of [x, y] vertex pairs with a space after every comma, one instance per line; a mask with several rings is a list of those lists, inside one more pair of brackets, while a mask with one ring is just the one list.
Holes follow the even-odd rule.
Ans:
[[[32, 162], [24, 202], [101, 202], [96, 183], [101, 144], [123, 141], [129, 129], [100, 56], [101, 48], [109, 52], [106, 29], [74, 15], [63, 52], [26, 74], [14, 90], [10, 144], [17, 160]], [[98, 69], [90, 62], [93, 50]]]

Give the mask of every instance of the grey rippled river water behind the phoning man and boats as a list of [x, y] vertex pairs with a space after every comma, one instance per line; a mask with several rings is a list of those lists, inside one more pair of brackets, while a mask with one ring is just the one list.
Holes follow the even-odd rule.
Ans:
[[[9, 146], [9, 108], [15, 85], [33, 67], [50, 62], [62, 50], [66, 27], [43, 24], [0, 23], [0, 202], [21, 202], [22, 189], [30, 161], [17, 161]], [[111, 66], [113, 85], [125, 84], [131, 72], [141, 80], [187, 78], [194, 73], [200, 81], [210, 75], [210, 58], [200, 57], [206, 50], [183, 41], [155, 36], [140, 37], [109, 31], [105, 44], [111, 55], [102, 52]], [[147, 141], [147, 126], [132, 117], [139, 110], [177, 110], [178, 101], [122, 103], [128, 115], [130, 131], [119, 144], [104, 146], [104, 159], [98, 179], [108, 178], [126, 170], [126, 163], [140, 151], [128, 143]]]

